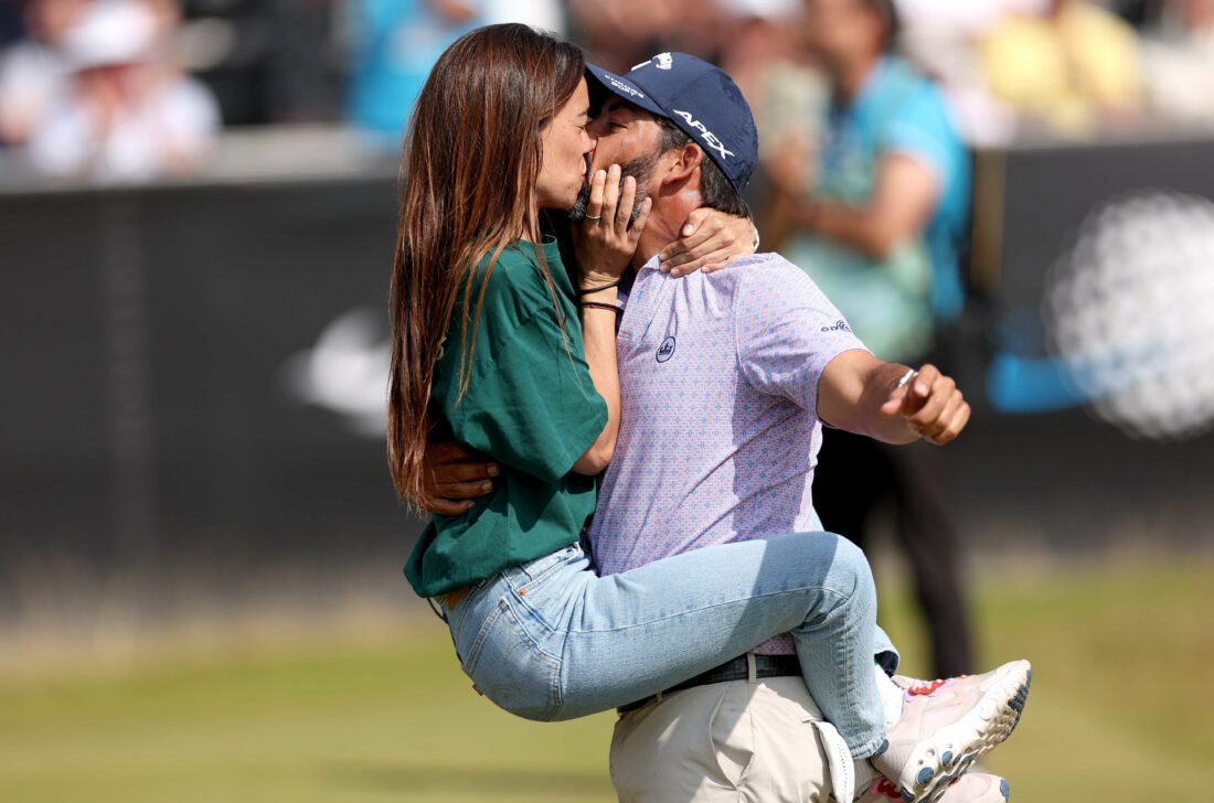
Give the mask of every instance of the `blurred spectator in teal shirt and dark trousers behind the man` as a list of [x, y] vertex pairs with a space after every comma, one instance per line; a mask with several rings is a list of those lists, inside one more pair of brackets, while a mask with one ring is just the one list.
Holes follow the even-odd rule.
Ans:
[[[938, 363], [941, 332], [964, 303], [969, 154], [942, 92], [896, 55], [890, 0], [806, 0], [805, 8], [830, 103], [816, 160], [783, 149], [767, 166], [767, 243], [809, 272], [874, 354]], [[970, 649], [938, 460], [830, 431], [813, 496], [823, 524], [857, 542], [869, 512], [894, 497], [936, 671], [948, 677], [970, 671]]]

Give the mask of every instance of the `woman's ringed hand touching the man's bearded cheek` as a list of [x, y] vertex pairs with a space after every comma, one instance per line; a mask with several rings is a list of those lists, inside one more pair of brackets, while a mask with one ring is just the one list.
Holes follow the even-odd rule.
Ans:
[[600, 170], [590, 180], [586, 220], [572, 227], [583, 289], [611, 284], [628, 268], [653, 205], [646, 198], [634, 220], [635, 204], [636, 180], [628, 176], [622, 186], [619, 165]]

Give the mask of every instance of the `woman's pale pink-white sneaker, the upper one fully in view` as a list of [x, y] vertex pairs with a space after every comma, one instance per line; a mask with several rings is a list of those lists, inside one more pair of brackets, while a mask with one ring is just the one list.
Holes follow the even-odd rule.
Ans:
[[1028, 661], [947, 680], [895, 676], [906, 689], [902, 716], [889, 728], [886, 750], [872, 757], [873, 767], [908, 803], [941, 799], [974, 759], [1011, 735], [1032, 678]]

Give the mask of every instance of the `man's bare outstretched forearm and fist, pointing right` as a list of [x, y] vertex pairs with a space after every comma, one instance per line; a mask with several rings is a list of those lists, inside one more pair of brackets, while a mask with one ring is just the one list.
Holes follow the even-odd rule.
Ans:
[[818, 381], [818, 418], [885, 443], [924, 438], [943, 445], [970, 420], [970, 405], [935, 365], [918, 372], [868, 352], [843, 352]]

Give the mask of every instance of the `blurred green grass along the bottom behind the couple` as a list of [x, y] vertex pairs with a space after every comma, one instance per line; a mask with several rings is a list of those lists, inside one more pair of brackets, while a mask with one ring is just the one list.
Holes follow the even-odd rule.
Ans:
[[[1197, 799], [1214, 754], [1214, 564], [987, 577], [986, 664], [1033, 659], [988, 768], [1019, 801]], [[883, 619], [921, 673], [897, 590]], [[537, 724], [476, 695], [441, 625], [0, 678], [0, 801], [614, 799], [612, 717]]]

